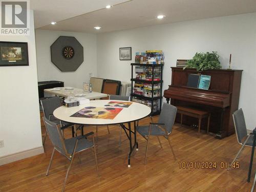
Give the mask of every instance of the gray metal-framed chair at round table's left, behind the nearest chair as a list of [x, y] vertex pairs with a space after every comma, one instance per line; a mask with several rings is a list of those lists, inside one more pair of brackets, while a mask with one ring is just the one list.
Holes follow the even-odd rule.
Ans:
[[[73, 123], [68, 123], [68, 122], [65, 122], [65, 121], [60, 121], [59, 119], [56, 119], [53, 116], [53, 111], [55, 109], [59, 108], [59, 106], [61, 106], [61, 102], [60, 102], [59, 97], [50, 97], [50, 98], [47, 98], [47, 99], [40, 100], [40, 102], [41, 102], [42, 111], [44, 112], [45, 117], [48, 120], [50, 120], [50, 121], [52, 121], [56, 124], [60, 124], [60, 126], [62, 126], [62, 125], [72, 126], [72, 136], [74, 137], [74, 124]], [[42, 145], [45, 145], [47, 133], [48, 132], [46, 130], [45, 138], [42, 141]]]

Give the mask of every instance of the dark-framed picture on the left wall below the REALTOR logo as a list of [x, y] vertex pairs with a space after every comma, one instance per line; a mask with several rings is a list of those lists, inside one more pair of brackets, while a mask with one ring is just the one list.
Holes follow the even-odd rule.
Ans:
[[28, 66], [28, 43], [0, 41], [1, 66]]

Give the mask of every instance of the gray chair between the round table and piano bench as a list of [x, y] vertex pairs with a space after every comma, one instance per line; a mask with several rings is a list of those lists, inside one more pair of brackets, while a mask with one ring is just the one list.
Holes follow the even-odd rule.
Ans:
[[168, 143], [170, 145], [170, 149], [172, 150], [172, 153], [176, 160], [176, 157], [175, 157], [175, 154], [173, 151], [173, 147], [170, 144], [170, 139], [169, 139], [169, 136], [172, 133], [173, 125], [175, 122], [176, 113], [177, 113], [176, 106], [173, 106], [173, 105], [170, 105], [167, 103], [163, 103], [163, 107], [162, 107], [162, 111], [160, 113], [158, 123], [150, 123], [149, 126], [148, 125], [137, 126], [137, 133], [139, 133], [144, 139], [147, 140], [144, 164], [146, 164], [148, 142], [150, 141], [150, 137], [152, 137], [152, 136], [157, 137], [161, 148], [162, 148], [162, 144], [160, 142], [159, 136], [163, 136], [165, 139], [167, 139]]

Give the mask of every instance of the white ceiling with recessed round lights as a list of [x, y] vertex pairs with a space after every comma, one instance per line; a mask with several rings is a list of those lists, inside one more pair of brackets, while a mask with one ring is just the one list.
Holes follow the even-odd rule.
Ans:
[[[72, 1], [72, 6], [68, 6], [68, 1], [61, 0], [36, 2], [36, 28], [91, 33], [256, 12], [256, 0], [75, 0]], [[55, 5], [58, 7], [56, 11], [55, 7], [39, 5], [39, 2], [41, 4], [44, 2], [44, 5], [47, 4], [46, 2], [54, 2], [54, 4], [66, 2], [66, 5]], [[115, 4], [115, 6], [111, 9], [102, 9], [107, 4], [106, 2], [112, 2], [111, 5]], [[34, 5], [31, 4], [33, 8]], [[156, 18], [159, 14], [166, 17], [159, 20]], [[54, 26], [48, 25], [52, 20], [58, 23]], [[102, 29], [96, 31], [95, 26], [101, 26]]]

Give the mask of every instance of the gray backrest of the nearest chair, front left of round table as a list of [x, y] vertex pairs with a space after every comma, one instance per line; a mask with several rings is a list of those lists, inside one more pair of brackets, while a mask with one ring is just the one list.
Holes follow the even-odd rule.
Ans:
[[63, 136], [57, 124], [49, 121], [46, 117], [44, 117], [44, 122], [53, 146], [63, 154], [67, 154]]

